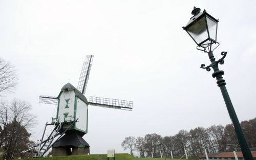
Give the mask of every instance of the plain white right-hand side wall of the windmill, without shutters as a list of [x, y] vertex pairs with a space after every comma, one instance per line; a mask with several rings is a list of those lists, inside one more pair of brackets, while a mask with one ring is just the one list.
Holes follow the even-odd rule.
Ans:
[[79, 130], [82, 130], [84, 132], [87, 132], [87, 121], [88, 121], [88, 106], [86, 103], [81, 101], [79, 98], [77, 98], [76, 103], [76, 119], [78, 119], [78, 122], [76, 123], [76, 128]]

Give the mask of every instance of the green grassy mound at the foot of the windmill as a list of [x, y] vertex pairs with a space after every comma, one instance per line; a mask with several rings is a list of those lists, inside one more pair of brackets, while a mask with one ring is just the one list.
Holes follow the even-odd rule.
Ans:
[[[106, 154], [90, 154], [90, 155], [70, 155], [70, 156], [53, 156], [36, 158], [36, 160], [106, 160]], [[113, 158], [110, 158], [112, 160]], [[115, 160], [134, 160], [135, 158], [127, 153], [115, 154]], [[26, 160], [35, 160], [35, 158], [28, 158]]]

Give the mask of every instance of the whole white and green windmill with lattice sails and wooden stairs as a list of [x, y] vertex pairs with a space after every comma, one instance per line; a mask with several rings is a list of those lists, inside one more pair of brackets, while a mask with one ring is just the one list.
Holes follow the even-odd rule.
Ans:
[[[57, 105], [56, 117], [50, 124], [46, 123], [42, 138], [25, 152], [35, 152], [34, 157], [42, 157], [52, 147], [52, 154], [76, 155], [90, 153], [89, 144], [82, 138], [88, 132], [88, 105], [132, 110], [133, 102], [109, 98], [84, 96], [89, 74], [92, 67], [93, 55], [86, 56], [77, 88], [72, 84], [65, 84], [57, 97], [39, 96], [39, 103]], [[53, 125], [54, 129], [46, 140], [44, 139], [46, 127]]]

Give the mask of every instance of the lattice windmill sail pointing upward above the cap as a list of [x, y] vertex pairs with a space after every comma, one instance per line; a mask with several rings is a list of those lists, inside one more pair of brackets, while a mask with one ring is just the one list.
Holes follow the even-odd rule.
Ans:
[[87, 87], [89, 74], [92, 67], [92, 62], [93, 62], [93, 55], [87, 55], [82, 65], [82, 71], [81, 71], [80, 78], [78, 81], [78, 86], [77, 86], [77, 89], [82, 94], [86, 92], [86, 87]]

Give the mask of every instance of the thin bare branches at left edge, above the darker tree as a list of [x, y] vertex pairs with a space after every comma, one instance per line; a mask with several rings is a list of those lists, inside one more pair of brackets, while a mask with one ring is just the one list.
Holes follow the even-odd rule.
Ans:
[[0, 57], [0, 93], [12, 92], [17, 85], [17, 80], [14, 66]]

